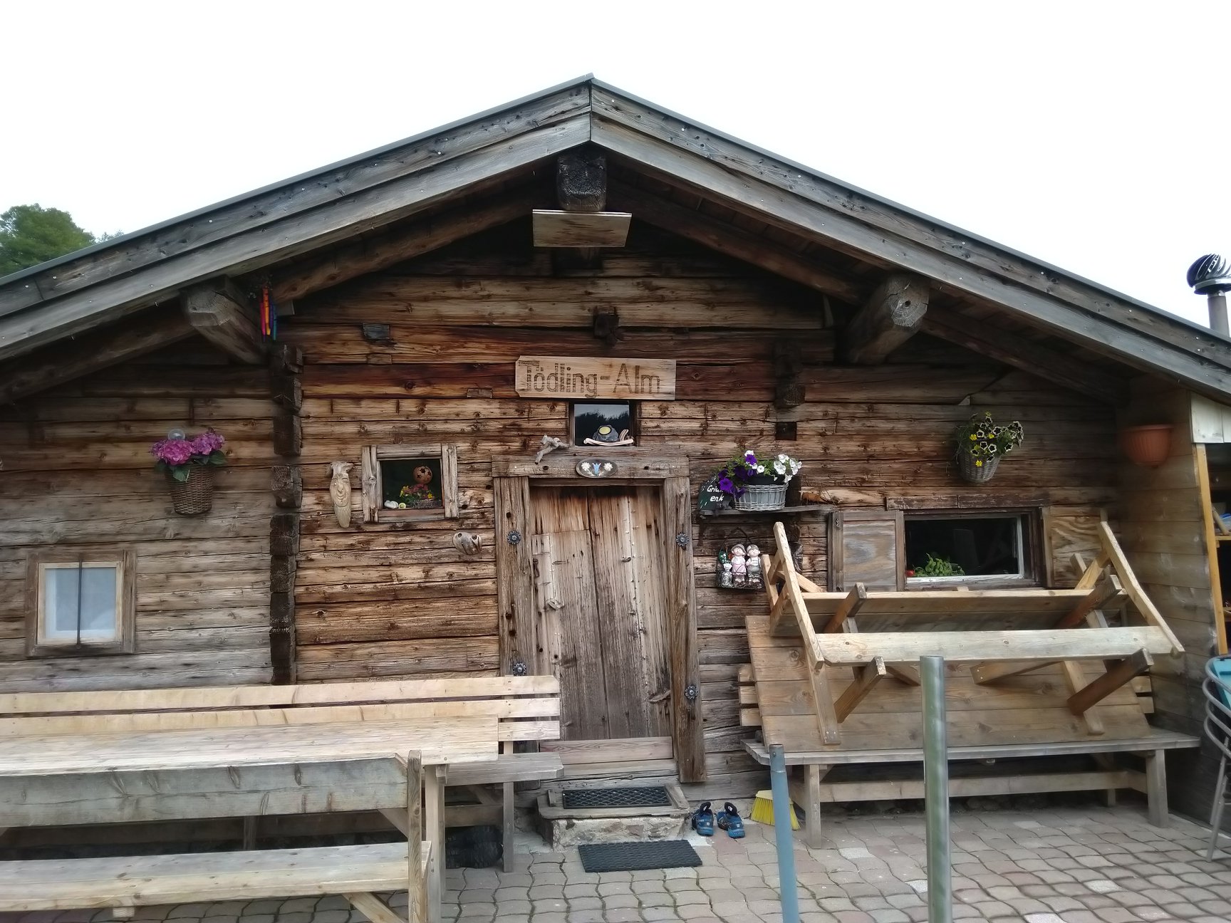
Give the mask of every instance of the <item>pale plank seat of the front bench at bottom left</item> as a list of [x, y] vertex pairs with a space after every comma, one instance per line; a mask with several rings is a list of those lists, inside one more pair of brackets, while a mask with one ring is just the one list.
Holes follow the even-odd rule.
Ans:
[[[432, 844], [423, 841], [420, 882]], [[55, 911], [405, 891], [406, 843], [4, 863], [0, 909]], [[362, 909], [362, 907], [361, 907]]]

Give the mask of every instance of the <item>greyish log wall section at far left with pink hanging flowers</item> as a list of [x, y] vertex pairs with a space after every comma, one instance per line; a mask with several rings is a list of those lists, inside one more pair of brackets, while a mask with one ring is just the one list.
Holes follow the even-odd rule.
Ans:
[[[268, 682], [267, 379], [183, 345], [0, 407], [0, 692]], [[230, 465], [176, 516], [149, 447], [207, 426]], [[135, 653], [27, 660], [27, 555], [94, 543], [137, 551]]]

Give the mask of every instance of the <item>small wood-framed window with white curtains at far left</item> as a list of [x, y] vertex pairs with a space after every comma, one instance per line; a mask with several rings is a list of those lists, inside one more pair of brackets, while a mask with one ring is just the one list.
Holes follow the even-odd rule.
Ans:
[[26, 569], [26, 653], [128, 653], [134, 647], [135, 554], [48, 549]]

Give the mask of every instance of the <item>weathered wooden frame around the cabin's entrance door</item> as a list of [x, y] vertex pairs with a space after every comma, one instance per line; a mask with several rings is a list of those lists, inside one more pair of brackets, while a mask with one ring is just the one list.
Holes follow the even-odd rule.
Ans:
[[[616, 476], [577, 474], [577, 461], [603, 458], [616, 463]], [[644, 449], [608, 453], [559, 452], [539, 463], [497, 459], [491, 464], [496, 507], [496, 604], [500, 620], [500, 671], [549, 673], [534, 620], [534, 561], [529, 548], [533, 522], [531, 480], [544, 485], [596, 487], [640, 485], [660, 489], [660, 516], [666, 561], [666, 628], [671, 671], [671, 741], [681, 781], [705, 780], [700, 669], [697, 651], [697, 597], [693, 570], [692, 487], [688, 459]]]

